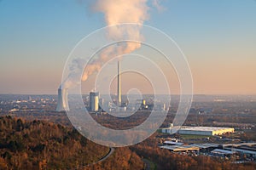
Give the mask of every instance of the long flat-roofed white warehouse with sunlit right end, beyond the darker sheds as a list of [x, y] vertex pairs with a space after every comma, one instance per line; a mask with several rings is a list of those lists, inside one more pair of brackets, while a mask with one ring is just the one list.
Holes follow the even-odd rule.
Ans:
[[234, 133], [232, 127], [182, 127], [178, 130], [180, 134], [195, 134], [195, 135], [222, 135], [224, 133]]

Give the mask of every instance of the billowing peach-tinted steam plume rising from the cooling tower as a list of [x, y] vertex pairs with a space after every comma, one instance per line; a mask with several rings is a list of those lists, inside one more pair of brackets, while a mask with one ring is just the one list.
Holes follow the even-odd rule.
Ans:
[[[143, 40], [141, 34], [141, 26], [116, 26], [124, 23], [137, 23], [143, 25], [145, 20], [148, 20], [148, 0], [96, 0], [91, 4], [91, 9], [94, 12], [100, 12], [104, 14], [105, 22], [108, 27], [107, 37], [113, 41], [123, 40]], [[158, 7], [158, 1], [154, 0], [153, 5]], [[121, 42], [114, 44], [107, 48], [103, 48], [98, 57], [90, 62], [86, 66], [82, 81], [86, 81], [90, 75], [100, 71], [102, 65], [112, 59], [115, 56], [122, 54], [129, 54], [137, 48], [141, 47], [140, 42]], [[79, 80], [77, 69], [84, 69], [84, 60], [75, 59], [73, 60], [73, 65], [71, 65], [71, 75], [67, 77], [62, 85], [65, 88], [71, 88], [74, 83]], [[78, 82], [79, 83], [79, 82]], [[64, 87], [62, 87], [64, 88]]]

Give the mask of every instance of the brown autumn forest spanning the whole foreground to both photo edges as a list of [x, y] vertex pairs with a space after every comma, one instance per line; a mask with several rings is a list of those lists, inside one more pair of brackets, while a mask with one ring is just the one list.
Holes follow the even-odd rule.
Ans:
[[155, 169], [256, 169], [255, 163], [233, 164], [209, 156], [183, 156], [161, 150], [154, 133], [129, 147], [109, 148], [85, 139], [72, 127], [45, 121], [0, 117], [0, 169], [145, 169], [143, 159]]

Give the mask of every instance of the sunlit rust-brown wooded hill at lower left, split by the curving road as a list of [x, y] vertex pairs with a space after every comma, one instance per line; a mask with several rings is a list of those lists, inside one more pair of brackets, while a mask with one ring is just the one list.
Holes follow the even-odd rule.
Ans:
[[[109, 148], [90, 142], [71, 127], [44, 121], [0, 117], [0, 169], [79, 169], [108, 154]], [[129, 148], [116, 150], [96, 167], [143, 169]], [[118, 167], [117, 167], [118, 166]], [[106, 168], [105, 168], [106, 167]], [[98, 169], [98, 168], [97, 168]]]

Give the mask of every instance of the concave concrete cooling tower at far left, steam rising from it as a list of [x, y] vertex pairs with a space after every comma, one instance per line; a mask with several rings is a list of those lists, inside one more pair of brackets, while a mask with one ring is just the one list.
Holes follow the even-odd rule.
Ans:
[[67, 101], [67, 88], [62, 89], [60, 87], [58, 89], [58, 104], [56, 107], [56, 111], [69, 111], [68, 101]]

